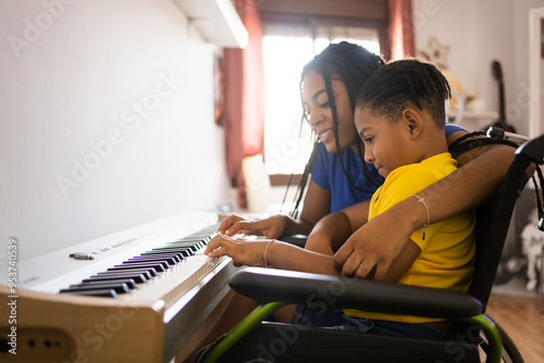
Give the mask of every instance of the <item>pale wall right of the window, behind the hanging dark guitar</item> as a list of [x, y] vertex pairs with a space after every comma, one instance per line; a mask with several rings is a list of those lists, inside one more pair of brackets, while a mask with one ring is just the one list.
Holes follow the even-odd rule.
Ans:
[[434, 36], [450, 47], [450, 71], [468, 93], [498, 111], [498, 86], [491, 63], [498, 60], [505, 80], [506, 117], [529, 133], [529, 10], [543, 0], [413, 0], [417, 49]]

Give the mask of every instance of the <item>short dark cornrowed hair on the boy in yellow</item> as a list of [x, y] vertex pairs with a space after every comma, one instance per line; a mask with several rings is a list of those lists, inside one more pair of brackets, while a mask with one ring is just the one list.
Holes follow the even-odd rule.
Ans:
[[446, 78], [434, 65], [417, 59], [388, 63], [375, 72], [360, 89], [357, 107], [368, 107], [390, 121], [400, 117], [412, 103], [432, 116], [436, 126], [446, 122], [446, 101], [452, 91]]

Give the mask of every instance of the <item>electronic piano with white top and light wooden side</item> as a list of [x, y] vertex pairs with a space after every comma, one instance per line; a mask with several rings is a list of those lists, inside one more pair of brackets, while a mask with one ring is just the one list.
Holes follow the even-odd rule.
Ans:
[[202, 253], [218, 223], [183, 213], [17, 261], [15, 289], [0, 276], [0, 361], [172, 361], [236, 268]]

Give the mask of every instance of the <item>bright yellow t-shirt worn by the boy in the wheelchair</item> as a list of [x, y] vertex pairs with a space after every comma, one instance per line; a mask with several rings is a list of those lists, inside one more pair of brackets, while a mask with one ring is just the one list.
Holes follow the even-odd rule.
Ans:
[[[410, 198], [434, 182], [442, 179], [456, 168], [457, 161], [446, 152], [425, 159], [421, 163], [394, 170], [372, 196], [369, 221], [395, 203]], [[440, 195], [445, 192], [447, 189], [437, 190], [436, 197], [440, 198]], [[432, 213], [432, 211], [430, 212]], [[425, 240], [422, 239], [422, 229], [416, 230], [410, 239], [418, 245], [421, 253], [398, 283], [467, 291], [474, 271], [474, 226], [475, 214], [470, 211], [430, 224], [426, 226]], [[344, 313], [355, 317], [404, 323], [436, 321], [416, 316], [369, 313], [355, 309], [345, 309]]]

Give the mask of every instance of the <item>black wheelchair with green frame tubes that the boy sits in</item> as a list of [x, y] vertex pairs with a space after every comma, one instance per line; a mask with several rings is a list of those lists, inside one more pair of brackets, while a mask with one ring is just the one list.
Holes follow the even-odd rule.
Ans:
[[[477, 209], [477, 265], [469, 291], [246, 267], [231, 277], [230, 285], [260, 305], [218, 339], [200, 362], [523, 362], [485, 308], [516, 201], [531, 178], [528, 171], [536, 164], [542, 180], [543, 163], [544, 135], [516, 150], [502, 186]], [[462, 328], [455, 339], [441, 341], [264, 321], [293, 303], [443, 318]]]

